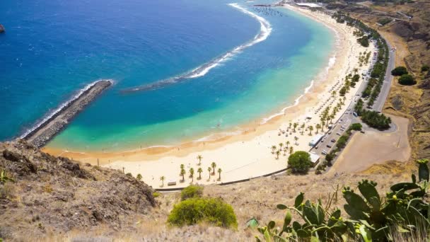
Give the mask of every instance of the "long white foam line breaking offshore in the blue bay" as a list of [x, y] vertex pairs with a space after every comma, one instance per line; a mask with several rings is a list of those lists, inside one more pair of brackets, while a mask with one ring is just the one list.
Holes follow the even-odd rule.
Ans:
[[257, 21], [260, 23], [260, 33], [257, 33], [257, 35], [255, 35], [253, 40], [245, 42], [245, 44], [235, 47], [233, 50], [227, 52], [226, 54], [221, 55], [221, 57], [212, 59], [210, 62], [202, 64], [202, 66], [199, 66], [196, 69], [193, 69], [192, 71], [189, 71], [185, 74], [182, 74], [180, 76], [175, 76], [170, 79], [164, 79], [161, 81], [156, 81], [154, 83], [145, 84], [142, 86], [136, 86], [134, 88], [127, 88], [122, 90], [122, 93], [154, 90], [158, 88], [163, 88], [164, 86], [170, 86], [172, 84], [179, 83], [180, 81], [185, 81], [186, 79], [194, 79], [197, 77], [204, 76], [211, 69], [219, 66], [219, 64], [221, 64], [222, 62], [225, 62], [226, 60], [231, 59], [231, 57], [242, 52], [246, 48], [257, 44], [258, 42], [262, 42], [266, 40], [267, 37], [269, 37], [270, 33], [272, 33], [272, 25], [270, 25], [270, 23], [265, 18], [262, 18], [257, 14], [246, 10], [245, 8], [243, 8], [242, 6], [239, 6], [238, 4], [228, 4], [228, 5], [232, 6], [233, 8], [237, 8], [239, 11], [242, 11], [243, 13], [248, 14], [249, 16], [252, 16], [252, 18], [257, 19]]

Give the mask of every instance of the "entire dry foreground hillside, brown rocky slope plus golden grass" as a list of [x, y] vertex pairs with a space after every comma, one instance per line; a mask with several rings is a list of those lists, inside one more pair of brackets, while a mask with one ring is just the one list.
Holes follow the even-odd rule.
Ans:
[[[119, 171], [43, 154], [25, 142], [0, 143], [0, 238], [6, 241], [252, 241], [257, 231], [245, 229], [248, 219], [261, 224], [281, 221], [278, 203], [293, 204], [299, 192], [327, 202], [328, 195], [359, 180], [375, 180], [382, 194], [390, 185], [409, 180], [411, 170], [388, 163], [361, 174], [277, 175], [246, 183], [204, 188], [204, 195], [221, 197], [233, 206], [238, 230], [199, 224], [172, 228], [166, 224], [178, 192], [159, 195], [144, 183]], [[395, 170], [393, 170], [395, 169]], [[395, 172], [393, 172], [395, 171]]]

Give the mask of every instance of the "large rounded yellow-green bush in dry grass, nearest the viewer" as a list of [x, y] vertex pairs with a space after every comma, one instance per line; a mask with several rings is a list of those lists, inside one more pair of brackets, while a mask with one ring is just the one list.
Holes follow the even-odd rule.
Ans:
[[238, 227], [233, 207], [220, 198], [191, 198], [175, 204], [168, 217], [168, 223], [184, 226], [207, 222], [225, 228]]

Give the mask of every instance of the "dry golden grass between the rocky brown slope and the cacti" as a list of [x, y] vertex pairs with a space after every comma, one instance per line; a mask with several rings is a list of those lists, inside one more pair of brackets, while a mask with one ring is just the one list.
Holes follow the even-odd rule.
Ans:
[[[107, 226], [98, 226], [91, 231], [70, 231], [67, 234], [47, 231], [49, 238], [42, 237], [40, 241], [253, 241], [258, 232], [246, 229], [246, 221], [255, 217], [260, 225], [265, 225], [270, 220], [280, 225], [284, 213], [276, 209], [276, 205], [294, 204], [299, 192], [305, 192], [306, 199], [316, 201], [320, 198], [325, 204], [328, 196], [339, 187], [338, 200], [333, 202], [332, 207], [342, 209], [344, 200], [340, 190], [343, 186], [356, 188], [362, 179], [374, 180], [378, 183], [380, 194], [384, 195], [393, 183], [410, 180], [414, 169], [411, 163], [391, 162], [373, 166], [363, 174], [284, 174], [233, 185], [204, 187], [204, 196], [221, 197], [233, 206], [239, 224], [236, 231], [209, 224], [182, 228], [168, 226], [168, 214], [173, 205], [180, 202], [180, 192], [164, 192], [157, 198], [159, 206], [146, 216], [130, 221], [129, 224], [134, 225], [127, 227], [127, 232], [122, 229], [114, 231]], [[345, 213], [343, 216], [347, 217]]]

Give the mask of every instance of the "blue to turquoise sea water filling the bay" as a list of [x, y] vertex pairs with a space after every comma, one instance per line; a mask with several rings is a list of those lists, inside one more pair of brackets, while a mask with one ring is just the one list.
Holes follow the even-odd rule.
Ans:
[[[264, 1], [255, 1], [259, 4]], [[267, 2], [267, 1], [266, 1]], [[49, 146], [75, 151], [178, 144], [231, 131], [291, 105], [327, 66], [332, 33], [275, 8], [272, 33], [204, 76], [124, 94], [186, 74], [252, 41], [256, 18], [226, 0], [5, 0], [0, 2], [0, 139], [32, 127], [98, 79], [115, 86]]]

